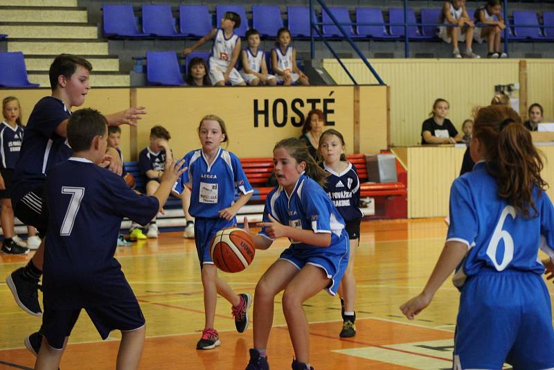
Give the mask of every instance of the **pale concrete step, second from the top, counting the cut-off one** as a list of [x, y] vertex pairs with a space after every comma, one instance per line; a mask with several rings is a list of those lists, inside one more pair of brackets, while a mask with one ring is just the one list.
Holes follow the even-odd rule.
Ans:
[[[1, 4], [1, 2], [0, 2]], [[15, 7], [0, 6], [0, 19], [10, 22], [87, 23], [87, 8]]]

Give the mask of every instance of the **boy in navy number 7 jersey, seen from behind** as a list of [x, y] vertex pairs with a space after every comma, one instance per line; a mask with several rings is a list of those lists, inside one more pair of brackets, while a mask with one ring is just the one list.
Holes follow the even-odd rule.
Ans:
[[[152, 197], [136, 194], [120, 176], [98, 166], [107, 147], [107, 120], [94, 109], [75, 112], [67, 125], [73, 157], [46, 179], [49, 204], [44, 252], [42, 346], [36, 369], [55, 369], [84, 308], [102, 339], [121, 331], [118, 369], [136, 369], [145, 320], [114, 258], [121, 220], [147, 223], [166, 202], [183, 170], [170, 163]], [[89, 233], [89, 229], [98, 232]]]

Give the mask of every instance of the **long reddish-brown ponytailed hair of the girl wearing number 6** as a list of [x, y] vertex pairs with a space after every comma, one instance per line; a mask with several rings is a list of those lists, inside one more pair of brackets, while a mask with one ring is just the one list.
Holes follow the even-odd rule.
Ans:
[[476, 113], [474, 136], [485, 150], [487, 170], [497, 180], [498, 195], [524, 218], [533, 208], [533, 188], [546, 188], [541, 177], [544, 167], [531, 135], [510, 107], [490, 105]]

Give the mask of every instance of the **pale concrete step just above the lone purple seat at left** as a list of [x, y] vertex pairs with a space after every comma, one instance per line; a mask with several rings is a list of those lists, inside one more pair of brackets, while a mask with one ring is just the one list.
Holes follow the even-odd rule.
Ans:
[[49, 39], [48, 41], [9, 39], [8, 51], [21, 51], [25, 55], [108, 55], [108, 43], [89, 39]]

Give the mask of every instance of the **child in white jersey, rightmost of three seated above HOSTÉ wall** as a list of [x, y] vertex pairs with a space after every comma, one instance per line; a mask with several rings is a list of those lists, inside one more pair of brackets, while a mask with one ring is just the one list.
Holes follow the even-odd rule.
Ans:
[[296, 65], [296, 49], [290, 46], [291, 35], [288, 28], [279, 28], [274, 49], [271, 51], [271, 69], [277, 75], [277, 81], [289, 86], [294, 82], [310, 85], [307, 76]]

